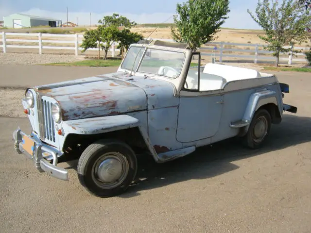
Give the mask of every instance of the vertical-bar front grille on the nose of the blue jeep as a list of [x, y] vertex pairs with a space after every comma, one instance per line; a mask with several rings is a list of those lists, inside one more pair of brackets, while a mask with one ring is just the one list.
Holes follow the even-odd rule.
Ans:
[[52, 103], [48, 100], [41, 100], [41, 105], [44, 121], [44, 138], [55, 142], [54, 120], [51, 114]]

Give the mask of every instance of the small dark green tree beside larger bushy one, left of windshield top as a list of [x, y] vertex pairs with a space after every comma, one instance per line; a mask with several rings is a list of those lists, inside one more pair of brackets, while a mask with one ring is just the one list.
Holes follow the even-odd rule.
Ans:
[[118, 34], [120, 54], [122, 54], [124, 50], [127, 51], [131, 44], [137, 43], [139, 40], [143, 39], [143, 35], [139, 33], [133, 33], [129, 29], [123, 29]]

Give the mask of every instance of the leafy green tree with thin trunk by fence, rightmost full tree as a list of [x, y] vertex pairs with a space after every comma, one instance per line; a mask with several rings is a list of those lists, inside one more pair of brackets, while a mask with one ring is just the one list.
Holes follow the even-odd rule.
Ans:
[[[310, 23], [310, 10], [296, 0], [283, 0], [278, 5], [277, 0], [259, 0], [255, 17], [249, 9], [249, 15], [263, 28], [266, 35], [258, 35], [268, 45], [265, 49], [273, 51], [276, 57], [276, 67], [279, 64], [279, 55], [292, 50], [294, 44], [301, 44], [308, 36], [306, 26]], [[286, 45], [292, 48], [284, 49]], [[293, 51], [294, 53], [297, 51]]]

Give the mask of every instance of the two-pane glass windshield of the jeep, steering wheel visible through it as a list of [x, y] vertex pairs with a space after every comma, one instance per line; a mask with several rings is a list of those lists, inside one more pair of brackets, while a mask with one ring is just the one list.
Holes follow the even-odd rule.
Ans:
[[[121, 68], [131, 70], [140, 47], [131, 47], [124, 58]], [[136, 70], [144, 49], [141, 49], [133, 70]], [[138, 72], [176, 78], [182, 69], [185, 54], [178, 51], [148, 48], [138, 67]], [[130, 64], [130, 68], [129, 65]]]

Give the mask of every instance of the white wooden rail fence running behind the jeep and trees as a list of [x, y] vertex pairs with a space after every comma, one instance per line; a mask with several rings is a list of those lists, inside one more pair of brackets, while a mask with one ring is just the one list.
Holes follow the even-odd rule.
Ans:
[[[8, 37], [15, 37], [7, 38]], [[19, 37], [37, 37], [37, 39], [19, 39]], [[18, 39], [16, 39], [16, 37]], [[47, 38], [48, 37], [48, 38]], [[55, 38], [54, 40], [51, 39]], [[47, 38], [47, 39], [45, 39]], [[64, 38], [63, 40], [60, 40], [60, 38]], [[155, 38], [153, 38], [156, 40]], [[3, 52], [5, 53], [7, 51], [7, 48], [17, 48], [17, 49], [37, 49], [39, 50], [39, 54], [42, 54], [42, 50], [74, 50], [75, 55], [78, 56], [78, 51], [83, 50], [79, 45], [82, 43], [83, 35], [81, 34], [49, 34], [49, 33], [5, 33], [2, 32], [2, 45], [0, 47], [3, 48]], [[164, 41], [173, 41], [172, 39], [159, 39]], [[8, 45], [7, 42], [18, 42], [18, 43], [25, 43], [25, 42], [32, 42], [37, 43], [37, 45]], [[45, 46], [43, 43], [52, 43], [52, 44], [74, 44], [74, 46]], [[113, 43], [110, 51], [112, 57], [115, 57], [115, 52], [120, 51], [116, 49], [116, 46], [118, 45], [117, 42]], [[230, 47], [236, 47], [236, 46], [245, 46], [248, 47], [248, 49], [232, 49]], [[229, 47], [229, 48], [226, 48]], [[252, 47], [251, 50], [249, 47]], [[260, 50], [263, 45], [259, 44], [238, 44], [238, 43], [225, 43], [225, 42], [209, 42], [206, 44], [205, 47], [200, 48], [202, 51], [203, 56], [215, 56], [218, 57], [219, 62], [222, 62], [224, 57], [232, 57], [232, 58], [246, 58], [246, 59], [252, 59], [254, 63], [257, 63], [258, 60], [275, 60], [276, 57], [273, 57], [272, 51], [267, 50]], [[289, 47], [284, 47], [289, 48]], [[97, 48], [88, 49], [88, 50], [98, 50]], [[209, 50], [209, 51], [207, 51]], [[310, 50], [310, 48], [304, 48], [304, 47], [294, 47], [294, 50], [302, 50], [301, 53], [295, 54], [297, 57], [300, 58], [293, 58], [293, 54], [289, 54], [288, 57], [280, 57], [280, 60], [288, 61], [288, 64], [291, 65], [292, 61], [296, 62], [306, 62], [306, 57], [303, 52]], [[243, 52], [243, 53], [253, 53], [253, 54], [247, 54], [247, 55], [239, 55], [239, 54], [227, 54], [224, 53], [224, 51], [227, 52]], [[267, 54], [267, 56], [263, 56], [261, 54]]]

